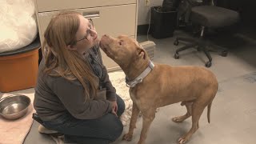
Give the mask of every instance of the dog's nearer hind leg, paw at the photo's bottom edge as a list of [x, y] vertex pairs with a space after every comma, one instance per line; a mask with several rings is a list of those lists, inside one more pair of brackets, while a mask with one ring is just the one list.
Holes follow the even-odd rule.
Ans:
[[201, 102], [194, 102], [192, 105], [192, 127], [189, 130], [189, 132], [187, 132], [185, 135], [182, 136], [182, 138], [178, 139], [178, 143], [179, 144], [183, 144], [185, 142], [187, 142], [190, 137], [192, 136], [192, 134], [194, 134], [194, 132], [196, 130], [198, 130], [199, 126], [198, 126], [198, 122], [199, 122], [199, 118], [202, 115], [203, 110], [205, 109], [206, 106], [202, 105]]

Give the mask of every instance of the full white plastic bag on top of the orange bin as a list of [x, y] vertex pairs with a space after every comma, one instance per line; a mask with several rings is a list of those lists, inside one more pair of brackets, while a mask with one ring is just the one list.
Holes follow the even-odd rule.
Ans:
[[34, 0], [0, 0], [0, 53], [29, 45], [38, 34]]

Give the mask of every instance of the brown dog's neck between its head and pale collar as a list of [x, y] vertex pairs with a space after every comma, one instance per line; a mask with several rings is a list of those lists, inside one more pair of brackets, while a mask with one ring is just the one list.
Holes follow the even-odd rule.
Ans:
[[137, 78], [146, 68], [149, 66], [150, 58], [134, 60], [130, 62], [127, 66], [123, 66], [122, 70], [126, 74], [126, 78], [132, 81]]

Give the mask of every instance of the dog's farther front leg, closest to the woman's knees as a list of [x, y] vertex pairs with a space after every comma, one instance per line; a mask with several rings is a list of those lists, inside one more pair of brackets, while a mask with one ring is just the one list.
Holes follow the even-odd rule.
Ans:
[[128, 132], [128, 134], [125, 134], [122, 137], [123, 140], [131, 141], [131, 139], [133, 138], [134, 128], [136, 127], [136, 122], [138, 119], [139, 112], [140, 112], [140, 110], [138, 109], [136, 102], [133, 102], [133, 109], [132, 109], [132, 114], [131, 114], [131, 118], [130, 118], [129, 132]]

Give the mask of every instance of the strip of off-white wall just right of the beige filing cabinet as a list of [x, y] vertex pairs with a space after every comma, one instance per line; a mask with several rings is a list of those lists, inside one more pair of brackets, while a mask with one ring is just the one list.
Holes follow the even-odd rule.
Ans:
[[150, 6], [145, 6], [146, 0], [138, 0], [138, 25], [146, 25], [149, 23], [150, 7], [162, 6], [163, 0], [150, 0]]

